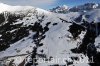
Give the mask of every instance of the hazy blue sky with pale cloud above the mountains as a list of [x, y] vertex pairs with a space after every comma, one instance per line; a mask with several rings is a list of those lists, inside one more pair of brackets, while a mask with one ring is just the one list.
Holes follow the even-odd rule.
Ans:
[[84, 3], [100, 3], [100, 0], [0, 0], [9, 5], [30, 5], [43, 9], [50, 9], [58, 5], [68, 5], [70, 7]]

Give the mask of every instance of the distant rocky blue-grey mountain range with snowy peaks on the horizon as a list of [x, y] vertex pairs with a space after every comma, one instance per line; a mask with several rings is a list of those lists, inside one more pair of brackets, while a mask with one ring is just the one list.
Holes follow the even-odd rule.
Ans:
[[98, 9], [98, 8], [100, 8], [100, 4], [86, 3], [86, 4], [75, 6], [75, 7], [68, 7], [66, 5], [57, 6], [53, 9], [50, 9], [50, 11], [55, 12], [55, 13], [81, 12], [81, 11], [85, 12], [85, 11]]

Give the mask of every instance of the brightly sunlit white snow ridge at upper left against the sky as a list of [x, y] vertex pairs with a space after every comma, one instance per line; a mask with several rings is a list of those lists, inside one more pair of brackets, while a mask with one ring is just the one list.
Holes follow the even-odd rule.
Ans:
[[[36, 9], [35, 7], [32, 6], [11, 6], [11, 5], [7, 5], [4, 3], [0, 3], [0, 13], [4, 12], [4, 11], [8, 11], [8, 12], [30, 12], [33, 11], [34, 9]], [[47, 12], [43, 9], [37, 8], [38, 11], [40, 11], [39, 13], [42, 12]]]

